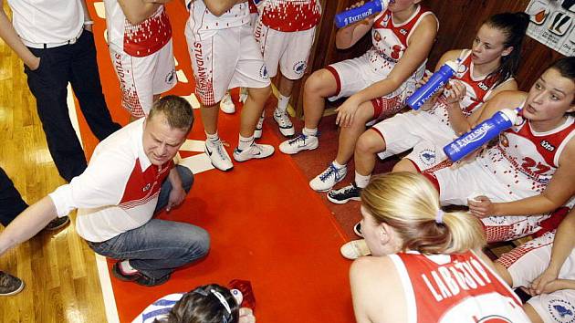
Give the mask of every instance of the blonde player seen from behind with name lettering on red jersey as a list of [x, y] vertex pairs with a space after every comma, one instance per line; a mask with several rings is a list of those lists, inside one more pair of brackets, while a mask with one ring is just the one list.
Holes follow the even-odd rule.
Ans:
[[528, 322], [521, 301], [486, 266], [481, 224], [471, 214], [444, 213], [421, 174], [374, 177], [361, 193], [362, 227], [374, 256], [350, 268], [358, 323]]

